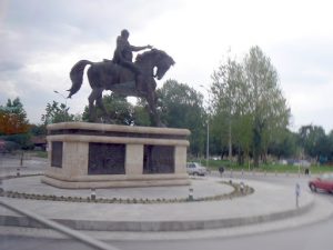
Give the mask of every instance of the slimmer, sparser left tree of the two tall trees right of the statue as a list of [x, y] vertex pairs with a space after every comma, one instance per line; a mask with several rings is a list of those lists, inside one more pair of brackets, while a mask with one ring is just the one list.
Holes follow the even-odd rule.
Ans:
[[[232, 144], [250, 151], [251, 119], [249, 119], [249, 98], [243, 68], [230, 57], [212, 74], [213, 131], [220, 134], [222, 146], [228, 147], [232, 157]], [[242, 150], [241, 150], [242, 149]]]

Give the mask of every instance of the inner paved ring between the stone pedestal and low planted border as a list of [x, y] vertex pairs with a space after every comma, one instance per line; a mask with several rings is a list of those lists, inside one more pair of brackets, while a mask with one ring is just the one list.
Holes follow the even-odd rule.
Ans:
[[[60, 189], [40, 181], [41, 176], [12, 178], [3, 181], [3, 189], [20, 193], [46, 196], [81, 197], [91, 196], [90, 189]], [[228, 194], [234, 191], [232, 186], [208, 178], [192, 178], [191, 186], [149, 187], [149, 188], [109, 188], [97, 189], [97, 198], [121, 199], [186, 199], [189, 189], [193, 189], [194, 199]]]

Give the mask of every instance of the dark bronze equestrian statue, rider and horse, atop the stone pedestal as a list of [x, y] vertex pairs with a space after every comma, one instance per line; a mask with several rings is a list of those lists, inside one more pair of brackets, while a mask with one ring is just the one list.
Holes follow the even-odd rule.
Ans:
[[[131, 46], [128, 41], [129, 36], [128, 30], [121, 31], [121, 36], [117, 38], [117, 48], [112, 60], [104, 59], [101, 62], [80, 60], [73, 66], [70, 71], [72, 87], [68, 90], [70, 92], [68, 98], [80, 90], [84, 68], [90, 64], [91, 67], [87, 71], [92, 89], [88, 98], [89, 121], [98, 121], [95, 107], [99, 107], [103, 117], [108, 119], [109, 116], [102, 102], [102, 92], [111, 90], [124, 97], [144, 98], [149, 106], [152, 124], [163, 127], [157, 111], [155, 78], [161, 80], [175, 62], [164, 51], [153, 49], [151, 46]], [[145, 49], [149, 50], [138, 54], [133, 63], [133, 52]]]

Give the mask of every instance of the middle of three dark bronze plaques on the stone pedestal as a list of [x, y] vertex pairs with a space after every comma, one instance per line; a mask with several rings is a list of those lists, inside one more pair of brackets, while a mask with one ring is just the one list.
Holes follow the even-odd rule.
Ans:
[[124, 174], [125, 144], [89, 143], [88, 174]]

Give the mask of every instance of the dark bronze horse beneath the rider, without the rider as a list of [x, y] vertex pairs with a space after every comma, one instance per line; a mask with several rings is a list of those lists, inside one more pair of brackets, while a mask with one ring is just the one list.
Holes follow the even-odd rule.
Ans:
[[135, 76], [129, 69], [109, 60], [102, 62], [91, 62], [88, 60], [78, 61], [70, 71], [72, 87], [68, 90], [70, 91], [68, 98], [71, 98], [80, 90], [84, 68], [90, 64], [91, 67], [87, 71], [88, 80], [92, 89], [88, 98], [90, 121], [97, 121], [95, 106], [99, 107], [103, 116], [108, 118], [108, 112], [102, 102], [102, 92], [104, 90], [111, 90], [112, 92], [125, 97], [145, 98], [153, 126], [162, 127], [163, 124], [157, 111], [157, 82], [154, 78], [161, 80], [169, 68], [174, 64], [174, 61], [164, 51], [152, 49], [139, 54], [134, 63], [142, 72], [140, 77], [142, 89], [140, 91], [135, 87]]

